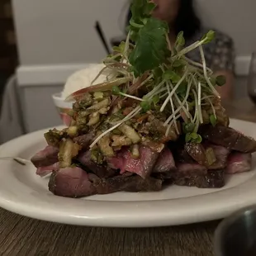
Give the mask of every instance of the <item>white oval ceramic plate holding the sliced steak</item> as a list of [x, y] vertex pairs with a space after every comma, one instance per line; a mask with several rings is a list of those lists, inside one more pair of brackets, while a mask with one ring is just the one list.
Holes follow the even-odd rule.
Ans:
[[[232, 120], [231, 126], [256, 138], [254, 123]], [[44, 132], [2, 145], [0, 157], [30, 159], [45, 147]], [[228, 177], [221, 189], [170, 186], [161, 192], [116, 192], [71, 199], [49, 192], [48, 179], [36, 176], [31, 164], [2, 161], [0, 206], [24, 216], [73, 225], [149, 227], [216, 220], [256, 203], [255, 167], [254, 161], [251, 172]]]

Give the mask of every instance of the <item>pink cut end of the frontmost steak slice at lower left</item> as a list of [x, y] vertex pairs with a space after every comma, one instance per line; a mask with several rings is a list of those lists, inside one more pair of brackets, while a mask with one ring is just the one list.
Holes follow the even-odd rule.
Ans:
[[97, 193], [82, 168], [62, 168], [51, 174], [49, 190], [60, 197], [88, 197]]

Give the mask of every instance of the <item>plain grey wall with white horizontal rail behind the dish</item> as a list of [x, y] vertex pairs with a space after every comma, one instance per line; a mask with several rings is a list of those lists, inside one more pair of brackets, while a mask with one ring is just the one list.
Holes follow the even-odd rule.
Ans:
[[[236, 98], [247, 96], [249, 61], [256, 48], [256, 2], [195, 2], [204, 26], [216, 28], [234, 40], [237, 55], [234, 94]], [[6, 4], [8, 7], [4, 7]], [[1, 69], [0, 73], [5, 80], [17, 64], [15, 33], [10, 18], [13, 8], [19, 53], [17, 90], [26, 132], [61, 124], [51, 95], [62, 90], [71, 73], [100, 62], [106, 55], [94, 28], [96, 21], [102, 25], [108, 46], [116, 38], [124, 37], [129, 6], [128, 0], [12, 0], [12, 7], [9, 1], [1, 1], [0, 9], [9, 11], [0, 13], [9, 15], [3, 17], [0, 14], [0, 35], [7, 35], [3, 37], [11, 44], [5, 46], [8, 50], [0, 48], [0, 69], [1, 59], [6, 59], [5, 71]], [[2, 21], [9, 25], [3, 26]], [[7, 33], [2, 34], [3, 27], [7, 27]], [[2, 57], [2, 52], [6, 57]]]

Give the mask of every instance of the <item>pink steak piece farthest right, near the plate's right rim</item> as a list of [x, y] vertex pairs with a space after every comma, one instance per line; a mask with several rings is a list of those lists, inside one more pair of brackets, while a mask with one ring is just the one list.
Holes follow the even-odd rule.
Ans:
[[231, 153], [228, 158], [228, 165], [225, 173], [244, 173], [252, 168], [252, 154], [242, 154], [238, 152]]

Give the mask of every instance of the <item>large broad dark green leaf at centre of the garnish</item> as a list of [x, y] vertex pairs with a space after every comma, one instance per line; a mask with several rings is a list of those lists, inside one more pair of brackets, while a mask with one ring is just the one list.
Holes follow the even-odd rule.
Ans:
[[167, 23], [153, 17], [149, 18], [147, 24], [140, 29], [135, 41], [135, 49], [129, 56], [136, 77], [147, 70], [159, 67], [159, 64], [164, 62], [168, 55], [167, 31]]

